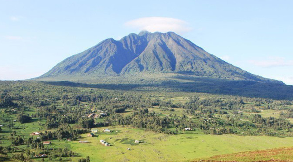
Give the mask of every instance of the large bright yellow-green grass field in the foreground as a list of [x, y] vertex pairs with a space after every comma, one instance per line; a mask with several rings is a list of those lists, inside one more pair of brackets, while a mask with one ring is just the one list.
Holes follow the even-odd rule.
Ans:
[[[242, 151], [272, 149], [293, 146], [293, 138], [268, 136], [236, 136], [194, 134], [166, 135], [136, 128], [109, 127], [112, 133], [96, 133], [94, 137], [83, 134], [76, 141], [52, 141], [47, 147], [68, 147], [78, 154], [70, 157], [78, 161], [87, 155], [94, 161], [186, 161], [207, 158], [214, 155], [230, 154]], [[99, 132], [103, 128], [98, 128]], [[116, 132], [116, 130], [118, 132]], [[79, 143], [79, 140], [90, 143]], [[99, 140], [111, 144], [105, 147]], [[134, 144], [134, 140], [146, 143]], [[131, 150], [127, 150], [130, 148]], [[46, 159], [48, 160], [48, 159]]]

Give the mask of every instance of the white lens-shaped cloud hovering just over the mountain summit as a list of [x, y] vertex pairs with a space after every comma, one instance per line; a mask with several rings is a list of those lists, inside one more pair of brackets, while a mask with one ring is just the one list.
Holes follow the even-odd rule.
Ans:
[[190, 31], [192, 28], [188, 26], [188, 23], [175, 18], [170, 17], [143, 17], [131, 21], [127, 21], [125, 26], [146, 30], [150, 32], [168, 32], [174, 31], [176, 33], [185, 33]]

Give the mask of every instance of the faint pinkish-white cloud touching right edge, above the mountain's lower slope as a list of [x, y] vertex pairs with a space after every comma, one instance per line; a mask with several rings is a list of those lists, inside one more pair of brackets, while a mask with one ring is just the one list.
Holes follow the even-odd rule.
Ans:
[[249, 63], [264, 68], [293, 66], [293, 60], [286, 60], [284, 57], [268, 57], [266, 60], [250, 60]]

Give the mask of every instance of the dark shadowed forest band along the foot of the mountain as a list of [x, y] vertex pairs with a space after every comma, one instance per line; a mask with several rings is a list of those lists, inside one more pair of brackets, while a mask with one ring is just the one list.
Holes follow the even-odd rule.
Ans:
[[[158, 76], [158, 78], [160, 78]], [[88, 82], [55, 81], [44, 82], [51, 85], [62, 85], [69, 87], [101, 88], [112, 90], [148, 90], [163, 92], [199, 92], [211, 94], [237, 95], [250, 98], [270, 98], [277, 100], [293, 100], [293, 86], [277, 83], [263, 83], [244, 80], [214, 79], [192, 76], [170, 76], [171, 79], [161, 77], [155, 79], [130, 79], [108, 78], [114, 83], [102, 80]], [[103, 78], [107, 79], [107, 77]], [[117, 80], [115, 80], [117, 79]], [[105, 81], [105, 82], [104, 82]]]

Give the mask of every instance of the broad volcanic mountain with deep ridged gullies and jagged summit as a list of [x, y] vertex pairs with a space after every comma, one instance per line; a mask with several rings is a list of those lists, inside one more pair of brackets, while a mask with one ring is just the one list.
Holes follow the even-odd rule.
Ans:
[[112, 38], [55, 65], [38, 80], [77, 80], [130, 75], [188, 75], [232, 80], [282, 83], [263, 78], [209, 54], [191, 41], [175, 34], [131, 33]]

